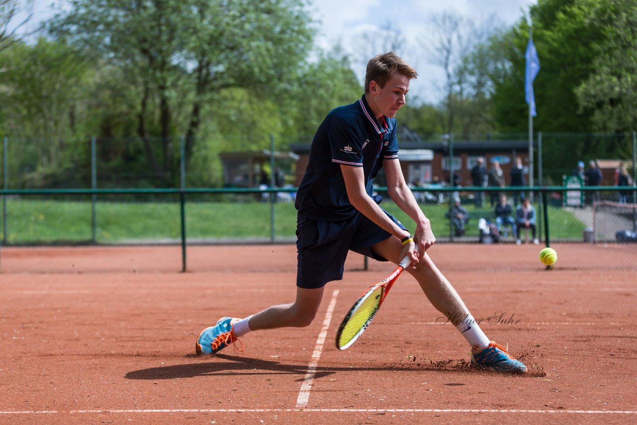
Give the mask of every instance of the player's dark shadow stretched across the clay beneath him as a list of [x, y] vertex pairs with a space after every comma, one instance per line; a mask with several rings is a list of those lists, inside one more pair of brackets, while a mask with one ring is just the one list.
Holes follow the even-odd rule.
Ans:
[[[130, 371], [125, 375], [127, 379], [177, 379], [215, 375], [299, 375], [297, 381], [303, 381], [308, 372], [307, 364], [285, 364], [273, 360], [253, 359], [243, 356], [227, 356], [216, 354], [214, 359], [206, 358], [204, 363], [175, 364]], [[215, 361], [215, 359], [223, 361]], [[322, 378], [339, 371], [466, 371], [467, 362], [457, 364], [445, 362], [444, 367], [436, 364], [423, 365], [420, 363], [390, 364], [382, 367], [329, 367], [318, 366], [314, 377]]]

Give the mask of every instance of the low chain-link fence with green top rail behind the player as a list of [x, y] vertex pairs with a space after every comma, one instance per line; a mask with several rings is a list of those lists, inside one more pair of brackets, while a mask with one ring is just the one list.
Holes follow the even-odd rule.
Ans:
[[[382, 189], [379, 192], [382, 192]], [[466, 189], [466, 190], [464, 190]], [[466, 244], [480, 244], [484, 252], [490, 247], [509, 246], [506, 256], [519, 257], [524, 267], [529, 248], [561, 245], [598, 247], [592, 259], [599, 261], [612, 255], [625, 268], [637, 269], [636, 203], [595, 201], [592, 205], [566, 205], [566, 190], [521, 188], [520, 198], [529, 198], [534, 216], [527, 230], [520, 230], [517, 205], [512, 206], [512, 223], [496, 220], [495, 206], [489, 202], [475, 205], [476, 192], [439, 189], [435, 201], [421, 204], [432, 222], [438, 243], [452, 243], [462, 249]], [[590, 189], [592, 190], [592, 189]], [[416, 192], [426, 192], [417, 189]], [[589, 191], [589, 189], [582, 189]], [[600, 198], [614, 199], [615, 191], [599, 191]], [[431, 192], [433, 194], [433, 192]], [[282, 196], [285, 194], [286, 196]], [[514, 199], [515, 193], [501, 194]], [[441, 195], [441, 196], [440, 196]], [[448, 199], [461, 199], [467, 212], [464, 230], [457, 233], [450, 218]], [[12, 266], [18, 247], [148, 247], [172, 246], [181, 256], [181, 270], [189, 270], [189, 247], [200, 245], [288, 244], [296, 240], [296, 210], [292, 203], [294, 189], [101, 189], [95, 191], [3, 191], [3, 226], [0, 271], [21, 270]], [[390, 199], [381, 204], [406, 226], [411, 220]], [[413, 230], [413, 229], [411, 229]], [[519, 245], [528, 247], [519, 249]], [[536, 248], [533, 248], [537, 245]], [[608, 250], [609, 246], [614, 247]], [[20, 251], [22, 252], [22, 251]], [[24, 256], [24, 252], [20, 256]], [[501, 254], [499, 254], [501, 255]], [[174, 260], [178, 262], [177, 259]], [[465, 262], [466, 263], [466, 262]], [[32, 264], [20, 258], [21, 271], [46, 271], [46, 261]], [[528, 263], [526, 263], [528, 264]], [[592, 263], [591, 263], [592, 264]], [[161, 268], [164, 264], [157, 264]], [[536, 263], [533, 263], [536, 266]], [[210, 268], [215, 268], [211, 260]], [[483, 261], [455, 264], [455, 268], [492, 267]], [[603, 263], [599, 267], [603, 268]], [[74, 271], [74, 270], [69, 270]], [[90, 271], [90, 270], [85, 270]], [[175, 270], [178, 271], [178, 270]]]

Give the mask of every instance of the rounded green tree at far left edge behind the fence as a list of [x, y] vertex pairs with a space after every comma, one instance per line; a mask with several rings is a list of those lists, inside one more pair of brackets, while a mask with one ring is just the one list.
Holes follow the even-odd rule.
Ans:
[[24, 141], [15, 145], [23, 152], [16, 165], [31, 171], [32, 182], [70, 168], [69, 156], [78, 150], [69, 140], [73, 112], [90, 71], [85, 57], [62, 43], [39, 38], [32, 47], [13, 44], [1, 52], [0, 60], [7, 67], [0, 80], [4, 126], [13, 140]]

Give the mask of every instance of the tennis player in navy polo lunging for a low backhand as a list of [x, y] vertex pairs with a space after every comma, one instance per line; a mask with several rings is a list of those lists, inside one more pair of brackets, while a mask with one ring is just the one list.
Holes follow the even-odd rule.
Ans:
[[[471, 364], [508, 373], [526, 371], [522, 362], [487, 338], [426, 254], [436, 238], [405, 183], [394, 118], [405, 104], [410, 80], [417, 75], [394, 52], [369, 60], [361, 99], [327, 114], [311, 143], [295, 203], [296, 300], [243, 319], [223, 317], [201, 332], [196, 342], [198, 354], [214, 354], [250, 331], [310, 325], [325, 285], [343, 278], [345, 258], [352, 250], [395, 264], [409, 256], [412, 265], [406, 271], [416, 278], [434, 308], [467, 340], [472, 349]], [[372, 179], [381, 168], [385, 169], [389, 196], [415, 222], [413, 236], [378, 205], [382, 197], [373, 195]]]

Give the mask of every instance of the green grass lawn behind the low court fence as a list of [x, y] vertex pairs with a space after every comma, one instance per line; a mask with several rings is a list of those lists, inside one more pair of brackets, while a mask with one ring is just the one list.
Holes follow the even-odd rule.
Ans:
[[[103, 197], [106, 198], [106, 197]], [[91, 204], [85, 200], [6, 199], [8, 243], [82, 243], [92, 240]], [[383, 208], [401, 220], [411, 231], [412, 220], [394, 203], [383, 201]], [[491, 208], [466, 208], [474, 217], [490, 217]], [[537, 205], [536, 205], [537, 208]], [[447, 205], [422, 205], [432, 222], [434, 234], [444, 238], [449, 234], [445, 218]], [[267, 202], [208, 202], [189, 201], [185, 205], [186, 233], [189, 240], [197, 239], [268, 239], [271, 226], [271, 204]], [[538, 213], [541, 211], [538, 210]], [[294, 238], [296, 210], [292, 203], [274, 205], [276, 238]], [[580, 240], [585, 225], [572, 213], [557, 207], [548, 210], [552, 239]], [[166, 202], [96, 203], [96, 240], [98, 243], [127, 241], [178, 240], [180, 233], [180, 205], [175, 196]], [[468, 236], [478, 236], [478, 219], [467, 226]], [[4, 236], [4, 235], [3, 235]]]

